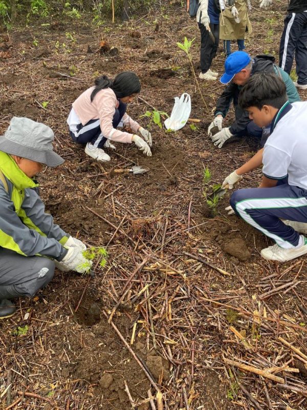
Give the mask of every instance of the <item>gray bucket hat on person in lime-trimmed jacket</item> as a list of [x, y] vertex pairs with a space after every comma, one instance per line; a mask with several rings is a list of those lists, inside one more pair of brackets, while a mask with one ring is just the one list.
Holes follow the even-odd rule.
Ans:
[[13, 117], [6, 133], [0, 137], [0, 151], [56, 167], [64, 159], [53, 151], [53, 139], [54, 133], [47, 125]]

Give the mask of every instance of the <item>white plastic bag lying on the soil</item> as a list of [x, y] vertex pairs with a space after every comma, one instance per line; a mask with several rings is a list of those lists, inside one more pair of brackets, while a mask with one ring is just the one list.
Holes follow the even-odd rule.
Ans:
[[183, 93], [180, 98], [175, 97], [170, 117], [164, 121], [167, 130], [177, 131], [184, 127], [189, 119], [191, 112], [191, 97]]

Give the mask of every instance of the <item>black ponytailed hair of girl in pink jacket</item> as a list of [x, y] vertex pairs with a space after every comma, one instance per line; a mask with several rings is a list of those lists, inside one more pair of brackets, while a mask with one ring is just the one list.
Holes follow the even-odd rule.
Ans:
[[133, 71], [124, 71], [118, 74], [114, 81], [106, 75], [102, 75], [95, 80], [95, 89], [91, 94], [91, 102], [98, 91], [105, 88], [111, 88], [115, 92], [116, 98], [123, 98], [138, 94], [141, 91], [141, 83], [139, 77]]

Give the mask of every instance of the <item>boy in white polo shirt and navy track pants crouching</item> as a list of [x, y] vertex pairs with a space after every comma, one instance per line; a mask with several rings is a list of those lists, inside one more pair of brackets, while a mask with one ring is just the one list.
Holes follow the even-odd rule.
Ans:
[[290, 104], [283, 81], [261, 73], [242, 89], [239, 104], [258, 127], [272, 125], [260, 186], [235, 191], [230, 205], [275, 240], [275, 245], [262, 249], [261, 256], [286, 262], [307, 253], [307, 239], [298, 233], [306, 230], [307, 222], [307, 102]]

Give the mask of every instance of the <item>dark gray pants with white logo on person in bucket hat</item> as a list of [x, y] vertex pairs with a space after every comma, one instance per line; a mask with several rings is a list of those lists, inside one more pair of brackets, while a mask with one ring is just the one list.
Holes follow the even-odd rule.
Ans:
[[0, 247], [0, 299], [32, 297], [53, 278], [54, 261], [42, 256], [23, 256]]

